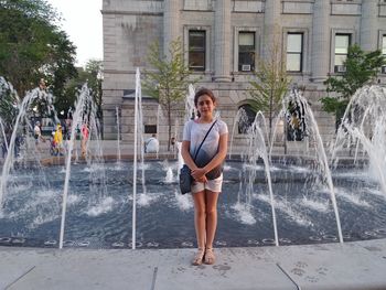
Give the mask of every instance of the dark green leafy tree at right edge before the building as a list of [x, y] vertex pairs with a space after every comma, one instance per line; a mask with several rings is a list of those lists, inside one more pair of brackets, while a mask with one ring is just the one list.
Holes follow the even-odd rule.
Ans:
[[380, 50], [365, 53], [357, 44], [349, 47], [347, 58], [343, 63], [345, 72], [336, 76], [330, 76], [325, 82], [326, 92], [334, 92], [336, 97], [321, 99], [323, 110], [334, 112], [336, 126], [355, 92], [366, 84], [374, 83], [379, 68], [386, 65], [386, 58]]

